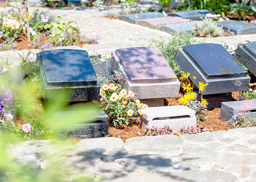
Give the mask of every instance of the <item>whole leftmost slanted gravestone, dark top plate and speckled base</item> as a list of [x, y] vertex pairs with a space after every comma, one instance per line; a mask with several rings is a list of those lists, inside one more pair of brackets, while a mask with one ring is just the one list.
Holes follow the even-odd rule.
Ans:
[[98, 100], [100, 85], [87, 51], [41, 51], [37, 61], [46, 102], [54, 102], [64, 92], [69, 96], [63, 102]]

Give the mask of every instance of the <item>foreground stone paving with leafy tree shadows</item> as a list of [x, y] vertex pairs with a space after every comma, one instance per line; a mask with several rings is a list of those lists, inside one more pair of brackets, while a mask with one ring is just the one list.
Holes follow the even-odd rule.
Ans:
[[[129, 138], [27, 141], [8, 152], [22, 165], [58, 164], [71, 181], [92, 175], [104, 182], [255, 182], [256, 127]], [[61, 162], [61, 163], [59, 163]], [[69, 180], [70, 179], [70, 180]]]

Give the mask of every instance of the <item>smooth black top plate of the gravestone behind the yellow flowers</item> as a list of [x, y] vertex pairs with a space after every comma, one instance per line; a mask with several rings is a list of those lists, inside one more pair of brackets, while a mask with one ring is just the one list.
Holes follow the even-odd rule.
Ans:
[[194, 44], [184, 46], [183, 51], [208, 79], [247, 75], [247, 71], [221, 44]]

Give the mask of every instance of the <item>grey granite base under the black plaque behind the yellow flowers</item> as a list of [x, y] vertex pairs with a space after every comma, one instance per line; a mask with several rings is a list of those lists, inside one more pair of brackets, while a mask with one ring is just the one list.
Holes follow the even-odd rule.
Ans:
[[[207, 79], [206, 76], [197, 68], [192, 60], [185, 54], [182, 48], [177, 51], [176, 62], [185, 72], [189, 72], [189, 78], [196, 76], [195, 84], [198, 85], [199, 81], [204, 84], [208, 83], [204, 95], [230, 93], [237, 91], [246, 91], [250, 83], [250, 76], [241, 76], [236, 78], [220, 78], [220, 79]], [[240, 81], [241, 85], [235, 85], [235, 82]]]

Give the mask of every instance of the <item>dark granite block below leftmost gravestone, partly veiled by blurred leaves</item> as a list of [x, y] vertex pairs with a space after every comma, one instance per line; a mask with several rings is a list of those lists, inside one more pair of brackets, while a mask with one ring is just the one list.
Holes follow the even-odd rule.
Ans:
[[[60, 131], [60, 135], [65, 137], [74, 137], [80, 139], [99, 138], [108, 134], [108, 115], [102, 110], [93, 111], [59, 111], [55, 116], [65, 118], [72, 114], [90, 115], [90, 117], [81, 118], [79, 124], [71, 124], [66, 130]], [[96, 122], [96, 123], [93, 123]]]

